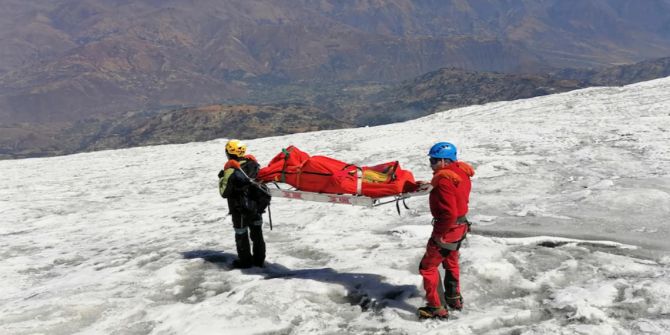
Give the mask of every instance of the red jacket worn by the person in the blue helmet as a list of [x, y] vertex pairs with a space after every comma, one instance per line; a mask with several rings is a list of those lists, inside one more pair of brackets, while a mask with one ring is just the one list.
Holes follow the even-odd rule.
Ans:
[[470, 178], [475, 171], [468, 163], [453, 162], [433, 174], [430, 192], [430, 212], [435, 218], [432, 237], [442, 242], [456, 242], [463, 237], [467, 225], [456, 219], [468, 213]]

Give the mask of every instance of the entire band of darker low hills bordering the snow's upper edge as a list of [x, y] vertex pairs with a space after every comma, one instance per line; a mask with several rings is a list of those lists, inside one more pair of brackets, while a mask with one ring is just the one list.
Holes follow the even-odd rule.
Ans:
[[[60, 128], [0, 128], [0, 158], [57, 155], [220, 137], [254, 138], [404, 121], [455, 107], [530, 98], [670, 75], [670, 58], [597, 70], [515, 75], [446, 68], [398, 85], [358, 84], [283, 91], [302, 102], [208, 105], [87, 119]], [[316, 92], [328, 92], [319, 95]], [[302, 95], [300, 95], [301, 93]], [[261, 97], [268, 99], [270, 96]]]

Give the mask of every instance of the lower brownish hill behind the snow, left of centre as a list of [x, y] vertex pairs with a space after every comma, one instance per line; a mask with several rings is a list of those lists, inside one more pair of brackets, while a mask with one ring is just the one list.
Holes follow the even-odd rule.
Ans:
[[[129, 113], [116, 120], [87, 119], [59, 129], [4, 129], [18, 141], [0, 138], [0, 158], [51, 156], [102, 149], [256, 138], [353, 126], [315, 107], [300, 104], [208, 105], [161, 113]], [[38, 135], [45, 134], [46, 135]]]

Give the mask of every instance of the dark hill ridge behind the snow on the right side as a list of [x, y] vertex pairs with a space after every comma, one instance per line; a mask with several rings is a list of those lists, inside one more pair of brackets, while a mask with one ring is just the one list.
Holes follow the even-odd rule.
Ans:
[[592, 86], [623, 86], [670, 76], [670, 57], [602, 69], [563, 69], [543, 75], [441, 69], [368, 98], [354, 123], [384, 124], [492, 101], [525, 99]]

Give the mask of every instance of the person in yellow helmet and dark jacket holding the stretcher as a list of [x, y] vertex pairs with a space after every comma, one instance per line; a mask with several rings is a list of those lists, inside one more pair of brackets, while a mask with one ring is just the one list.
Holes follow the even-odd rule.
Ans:
[[[265, 264], [265, 241], [263, 239], [264, 208], [259, 208], [254, 179], [259, 165], [252, 155], [245, 155], [247, 146], [239, 140], [226, 143], [226, 162], [219, 172], [219, 192], [228, 200], [228, 210], [235, 228], [237, 257], [233, 267], [263, 267]], [[249, 243], [253, 243], [253, 250]]]

